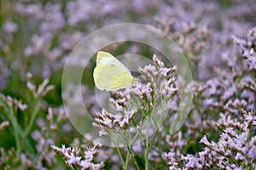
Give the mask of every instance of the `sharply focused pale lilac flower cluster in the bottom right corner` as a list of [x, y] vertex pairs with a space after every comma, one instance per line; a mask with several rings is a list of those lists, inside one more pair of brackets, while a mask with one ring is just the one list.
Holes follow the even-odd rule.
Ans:
[[[255, 144], [253, 144], [254, 132], [252, 131], [254, 127], [253, 123], [255, 121], [255, 113], [242, 111], [241, 120], [236, 119], [227, 120], [226, 117], [223, 117], [225, 120], [219, 120], [216, 122], [218, 127], [224, 128], [224, 133], [220, 135], [220, 139], [217, 143], [209, 142], [204, 136], [201, 139], [201, 143], [206, 144], [207, 148], [211, 150], [211, 154], [214, 153], [215, 156], [224, 156], [229, 159], [225, 159], [225, 164], [229, 165], [228, 160], [239, 160], [240, 166], [253, 167], [253, 161], [256, 159], [256, 155], [251, 154], [247, 155], [247, 152], [255, 149]], [[252, 145], [253, 144], [253, 145]], [[213, 155], [212, 155], [213, 156]], [[247, 159], [249, 157], [249, 159]]]

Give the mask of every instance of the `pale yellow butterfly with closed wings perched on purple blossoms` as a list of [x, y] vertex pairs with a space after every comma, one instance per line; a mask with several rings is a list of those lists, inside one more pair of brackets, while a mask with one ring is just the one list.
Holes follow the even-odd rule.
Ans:
[[93, 71], [96, 88], [106, 91], [118, 90], [131, 86], [138, 79], [118, 59], [104, 51], [96, 56], [96, 68]]

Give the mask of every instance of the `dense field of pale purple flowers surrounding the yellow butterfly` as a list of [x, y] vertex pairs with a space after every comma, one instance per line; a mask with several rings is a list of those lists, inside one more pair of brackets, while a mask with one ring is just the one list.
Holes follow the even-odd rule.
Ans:
[[[0, 169], [256, 169], [255, 15], [254, 0], [1, 0]], [[79, 42], [128, 22], [172, 38], [193, 81], [161, 51], [127, 41], [103, 49], [149, 59], [126, 60], [137, 82], [95, 88], [95, 53], [87, 65], [72, 60], [81, 84], [72, 75], [63, 88]], [[84, 50], [102, 50], [94, 43]]]

